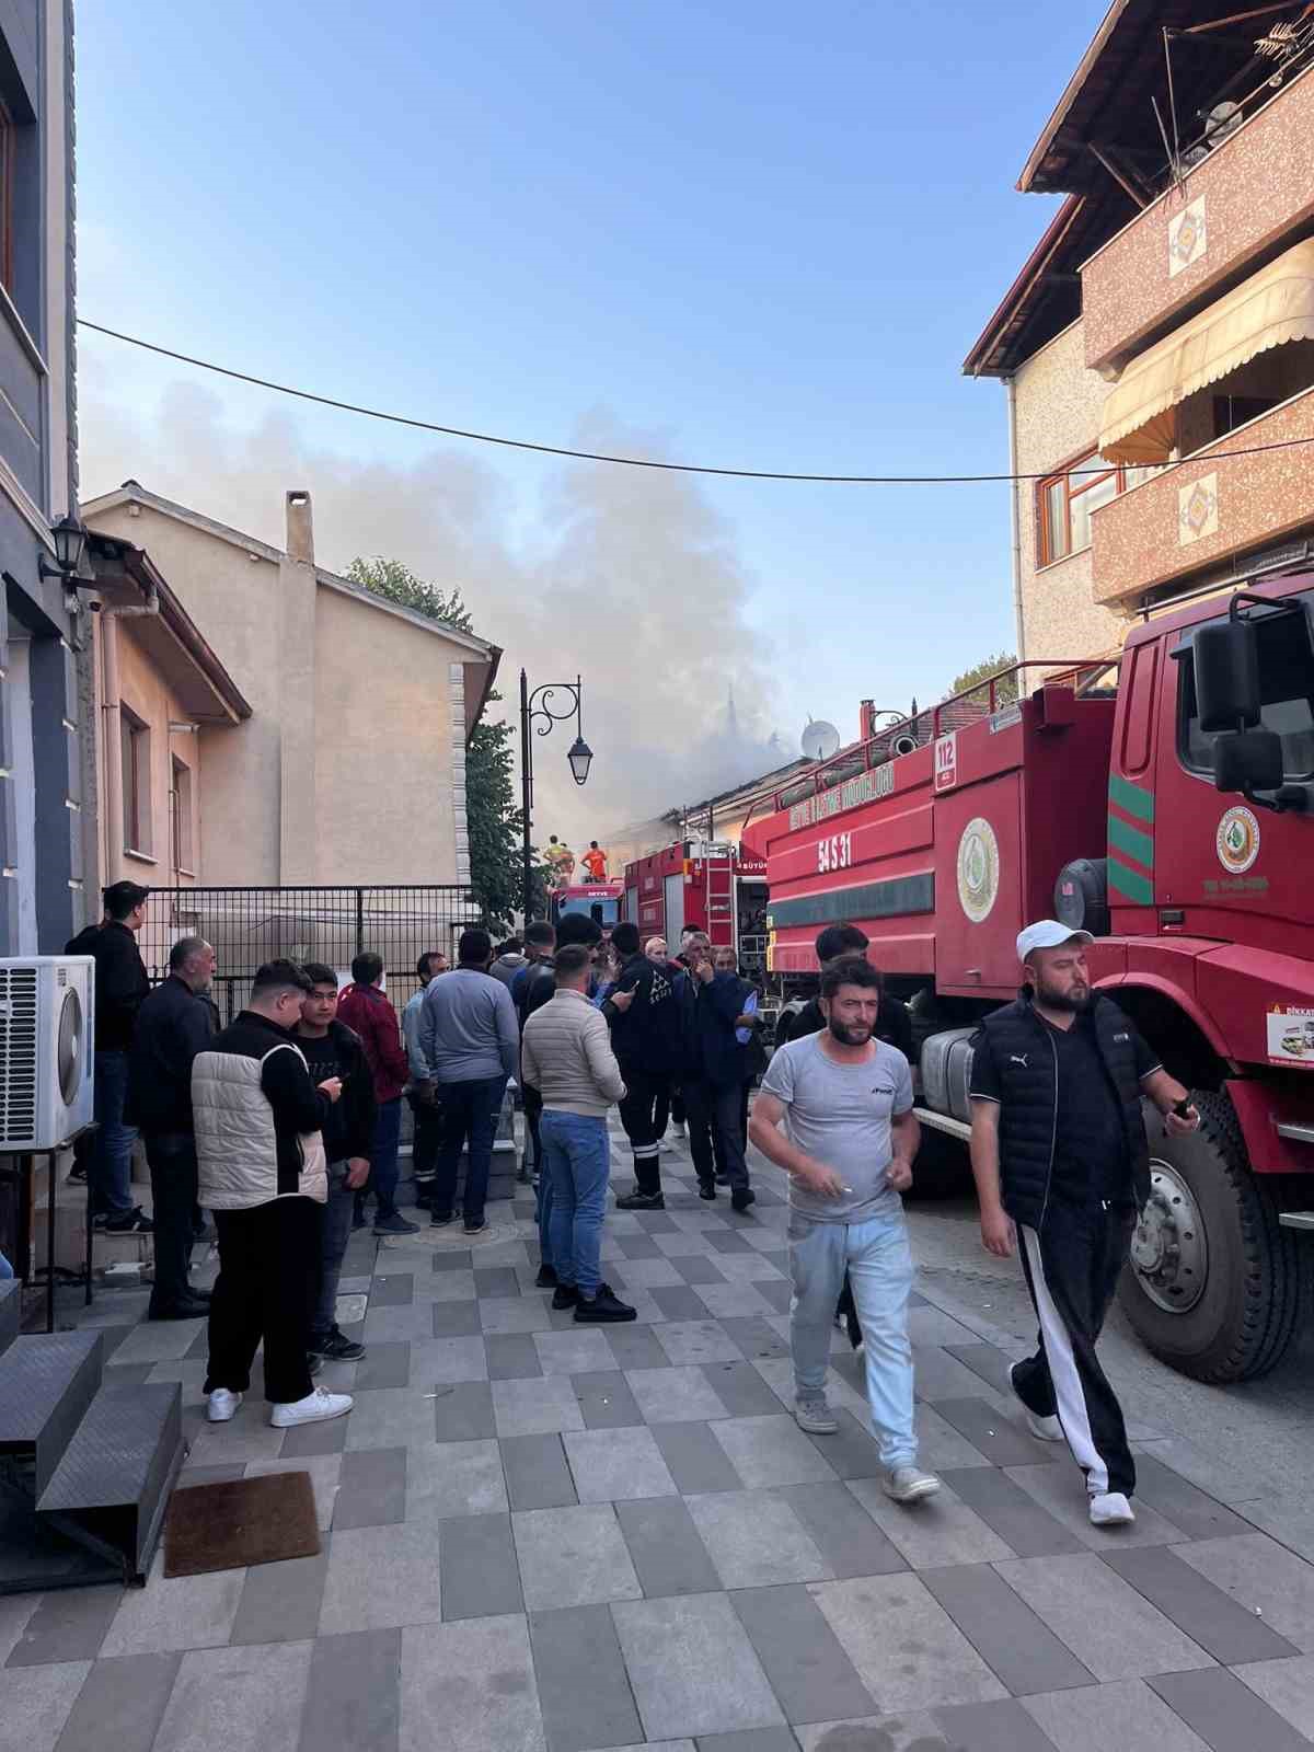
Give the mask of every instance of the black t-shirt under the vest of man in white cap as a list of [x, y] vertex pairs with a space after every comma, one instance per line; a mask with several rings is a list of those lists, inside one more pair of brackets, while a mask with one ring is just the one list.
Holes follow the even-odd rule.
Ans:
[[[1100, 1056], [1095, 1018], [1076, 1016], [1070, 1028], [1055, 1028], [1039, 1011], [1035, 1020], [1058, 1053], [1058, 1127], [1051, 1195], [1081, 1205], [1093, 1200], [1134, 1204], [1123, 1109]], [[1162, 1060], [1151, 1053], [1135, 1028], [1130, 1028], [1130, 1034], [1135, 1074], [1148, 1077], [1151, 1070], [1162, 1067]], [[972, 1058], [972, 1095], [1000, 1100], [1002, 1093], [999, 1070], [983, 1041]]]

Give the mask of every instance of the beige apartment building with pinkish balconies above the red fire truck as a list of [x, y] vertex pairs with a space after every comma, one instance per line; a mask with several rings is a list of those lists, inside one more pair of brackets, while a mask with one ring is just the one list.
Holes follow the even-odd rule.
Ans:
[[1114, 0], [1018, 187], [1063, 201], [964, 370], [1035, 477], [1018, 650], [1062, 662], [1314, 554], [1314, 7]]

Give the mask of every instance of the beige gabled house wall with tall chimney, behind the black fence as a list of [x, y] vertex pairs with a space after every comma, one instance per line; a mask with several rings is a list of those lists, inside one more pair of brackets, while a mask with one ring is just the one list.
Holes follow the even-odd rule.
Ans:
[[[194, 750], [205, 773], [189, 865], [200, 883], [470, 880], [466, 739], [496, 646], [317, 566], [307, 492], [287, 494], [286, 548], [137, 482], [93, 499], [84, 517], [96, 541], [149, 554], [249, 706], [237, 722], [228, 708], [221, 720], [182, 711], [175, 722], [194, 731], [168, 732], [168, 760], [187, 766]], [[123, 631], [140, 639], [145, 625], [135, 618]], [[123, 771], [124, 738], [142, 722], [123, 673], [119, 724], [107, 736]], [[114, 748], [105, 759], [112, 769]], [[166, 787], [163, 750], [152, 773]], [[116, 848], [138, 881], [165, 881], [161, 834], [156, 827], [151, 848]]]

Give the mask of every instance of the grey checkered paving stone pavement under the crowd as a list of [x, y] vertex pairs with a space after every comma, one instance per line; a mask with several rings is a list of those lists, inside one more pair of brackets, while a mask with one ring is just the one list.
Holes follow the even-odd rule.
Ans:
[[0, 1752], [1314, 1745], [1314, 1565], [1272, 1517], [1148, 1458], [1137, 1526], [1091, 1529], [1002, 1353], [929, 1295], [944, 1491], [890, 1503], [839, 1333], [839, 1433], [788, 1416], [780, 1177], [745, 1216], [697, 1200], [683, 1149], [664, 1181], [666, 1212], [608, 1216], [632, 1326], [552, 1312], [527, 1191], [484, 1242], [354, 1235], [368, 1353], [321, 1377], [356, 1393], [333, 1424], [270, 1430], [258, 1382], [207, 1426], [203, 1326], [98, 1296], [110, 1379], [182, 1382], [184, 1482], [307, 1470], [324, 1549], [0, 1598]]

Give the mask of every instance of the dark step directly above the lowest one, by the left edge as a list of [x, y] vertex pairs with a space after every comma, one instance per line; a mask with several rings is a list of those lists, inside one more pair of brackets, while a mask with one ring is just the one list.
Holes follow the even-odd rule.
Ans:
[[105, 1363], [98, 1332], [14, 1339], [0, 1356], [0, 1456], [33, 1466], [33, 1494], [54, 1477], [96, 1396]]

